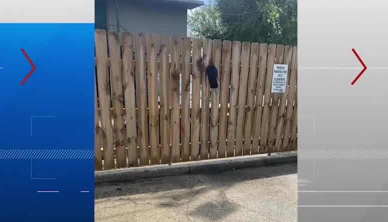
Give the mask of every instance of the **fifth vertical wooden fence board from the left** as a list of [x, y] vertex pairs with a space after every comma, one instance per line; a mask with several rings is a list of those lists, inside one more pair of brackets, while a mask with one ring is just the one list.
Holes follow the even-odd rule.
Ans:
[[159, 105], [157, 96], [157, 50], [159, 36], [147, 34], [147, 83], [148, 83], [148, 127], [149, 127], [149, 158], [151, 164], [159, 163]]

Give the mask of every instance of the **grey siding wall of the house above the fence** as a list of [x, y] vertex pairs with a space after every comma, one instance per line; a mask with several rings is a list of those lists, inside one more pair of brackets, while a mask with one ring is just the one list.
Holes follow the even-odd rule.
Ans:
[[[187, 35], [187, 9], [172, 3], [141, 3], [119, 0], [120, 31]], [[107, 0], [109, 30], [116, 28], [116, 0]]]

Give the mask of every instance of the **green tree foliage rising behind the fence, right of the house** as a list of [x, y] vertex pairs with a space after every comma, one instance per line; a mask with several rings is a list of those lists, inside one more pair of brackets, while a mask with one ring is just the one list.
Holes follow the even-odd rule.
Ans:
[[297, 0], [215, 0], [195, 13], [189, 29], [200, 37], [297, 43]]

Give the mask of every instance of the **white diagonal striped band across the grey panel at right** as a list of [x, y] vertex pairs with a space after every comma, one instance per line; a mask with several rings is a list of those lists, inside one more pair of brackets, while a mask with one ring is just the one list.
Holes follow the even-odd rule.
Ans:
[[388, 149], [299, 149], [298, 159], [388, 159]]

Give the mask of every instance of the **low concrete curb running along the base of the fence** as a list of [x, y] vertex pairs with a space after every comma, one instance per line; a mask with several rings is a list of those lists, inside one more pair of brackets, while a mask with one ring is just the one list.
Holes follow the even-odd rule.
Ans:
[[95, 184], [104, 182], [133, 181], [161, 176], [183, 175], [190, 173], [219, 172], [228, 169], [265, 166], [278, 163], [297, 162], [297, 152], [282, 152], [267, 154], [238, 156], [232, 158], [207, 159], [192, 162], [173, 163], [172, 165], [153, 165], [135, 168], [123, 168], [96, 171]]

